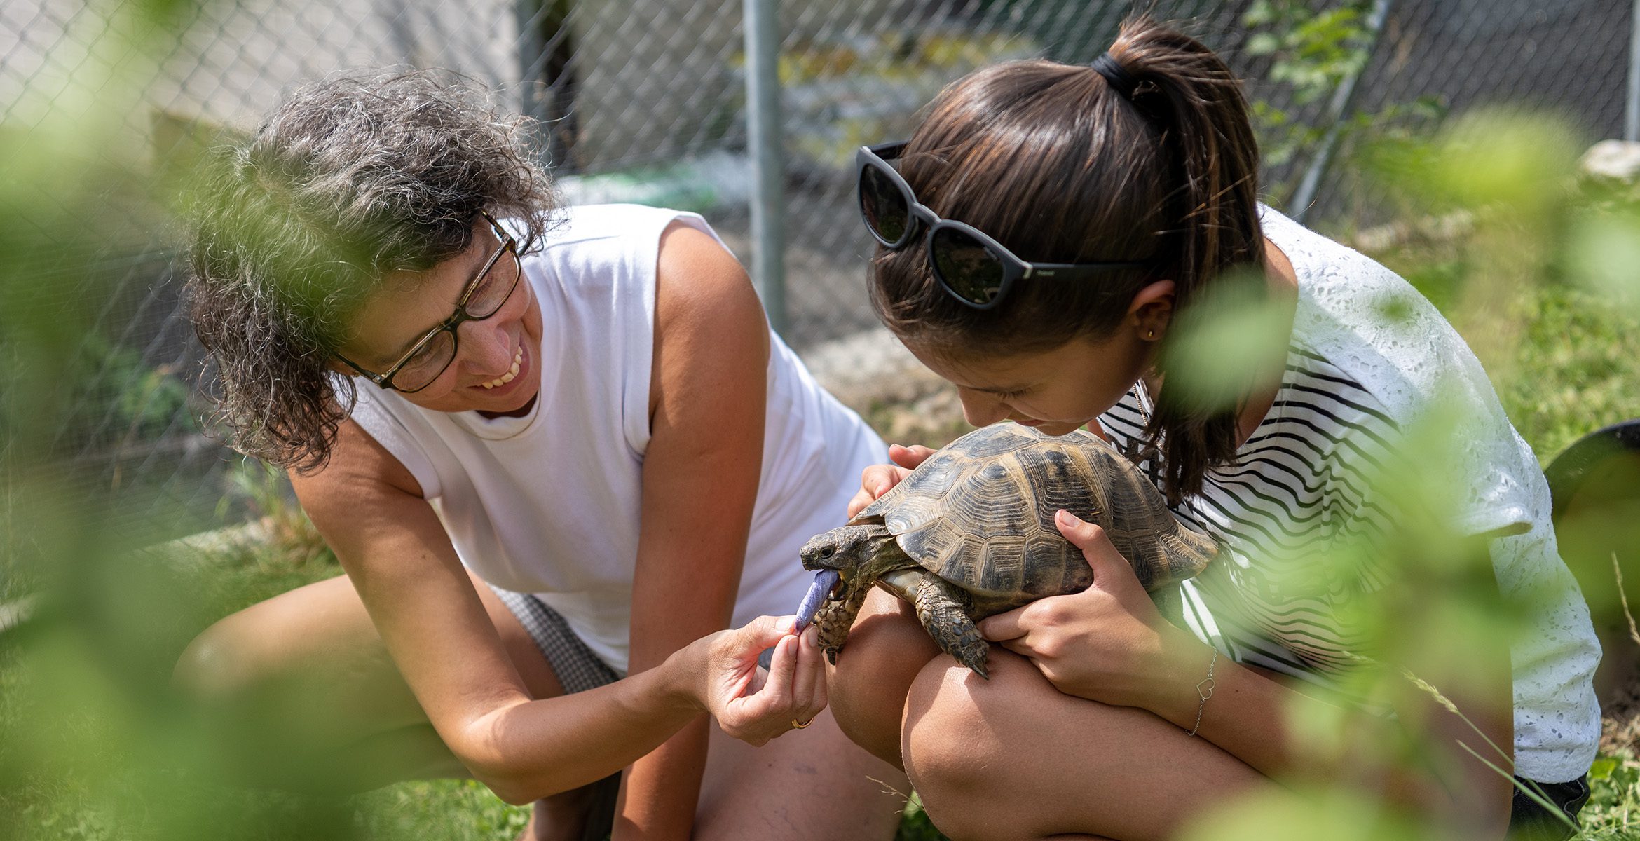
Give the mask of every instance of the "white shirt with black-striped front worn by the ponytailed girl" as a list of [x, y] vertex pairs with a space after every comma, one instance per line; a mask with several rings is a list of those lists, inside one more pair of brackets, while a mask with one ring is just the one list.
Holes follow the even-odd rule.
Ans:
[[[1530, 623], [1510, 646], [1515, 774], [1581, 775], [1599, 738], [1599, 646], [1555, 548], [1532, 449], [1479, 361], [1405, 280], [1274, 210], [1261, 221], [1299, 279], [1286, 370], [1235, 459], [1173, 507], [1222, 551], [1159, 602], [1225, 656], [1373, 708], [1350, 677], [1374, 656], [1371, 608], [1397, 575], [1386, 539], [1401, 520], [1401, 493], [1376, 490], [1376, 477], [1430, 477], [1432, 490], [1453, 492], [1437, 500], [1448, 525], [1487, 541], [1499, 595]], [[1140, 385], [1099, 423], [1155, 479], [1158, 456], [1141, 448], [1150, 411]], [[1450, 446], [1409, 449], [1432, 418], [1451, 421]]]

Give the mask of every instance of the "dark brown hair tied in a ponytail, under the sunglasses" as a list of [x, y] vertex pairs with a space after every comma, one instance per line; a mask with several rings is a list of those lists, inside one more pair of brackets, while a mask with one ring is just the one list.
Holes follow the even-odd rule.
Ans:
[[[1018, 284], [994, 310], [951, 300], [920, 248], [879, 249], [872, 303], [895, 334], [961, 359], [974, 348], [1033, 352], [1115, 331], [1145, 285], [1174, 282], [1174, 325], [1207, 284], [1263, 270], [1258, 144], [1240, 84], [1219, 56], [1150, 16], [1109, 49], [1135, 84], [1089, 66], [1020, 61], [951, 84], [900, 162], [922, 203], [989, 233], [1027, 261], [1143, 261], [1082, 284]], [[999, 197], [1007, 197], [999, 200]], [[1166, 374], [1169, 330], [1158, 370]], [[1146, 434], [1171, 502], [1235, 457], [1237, 408], [1163, 389]]]

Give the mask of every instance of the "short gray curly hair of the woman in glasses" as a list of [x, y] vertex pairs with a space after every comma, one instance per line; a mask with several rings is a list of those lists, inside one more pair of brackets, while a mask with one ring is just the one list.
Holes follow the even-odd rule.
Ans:
[[467, 249], [481, 210], [535, 248], [556, 202], [535, 126], [446, 72], [343, 74], [221, 149], [190, 208], [190, 313], [216, 362], [215, 418], [248, 456], [310, 472], [358, 398], [331, 374], [389, 272]]

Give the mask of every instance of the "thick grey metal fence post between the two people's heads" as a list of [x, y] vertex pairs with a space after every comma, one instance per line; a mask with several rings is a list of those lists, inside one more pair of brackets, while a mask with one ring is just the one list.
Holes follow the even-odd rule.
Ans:
[[746, 138], [751, 151], [751, 280], [786, 333], [786, 156], [781, 148], [777, 0], [745, 0]]

